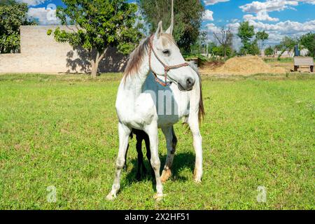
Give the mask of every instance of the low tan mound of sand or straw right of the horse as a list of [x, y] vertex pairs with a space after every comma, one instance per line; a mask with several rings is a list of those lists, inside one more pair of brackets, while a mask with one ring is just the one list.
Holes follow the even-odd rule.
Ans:
[[283, 67], [270, 66], [258, 56], [233, 57], [215, 69], [205, 67], [204, 74], [219, 75], [253, 75], [257, 73], [286, 73]]

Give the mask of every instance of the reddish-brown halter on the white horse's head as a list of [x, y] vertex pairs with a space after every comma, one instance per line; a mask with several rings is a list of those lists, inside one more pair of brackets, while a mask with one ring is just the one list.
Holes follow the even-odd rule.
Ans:
[[[156, 54], [156, 52], [155, 52], [155, 50], [153, 48], [153, 38], [154, 38], [154, 34], [150, 37], [150, 41], [149, 41], [149, 44], [150, 44], [150, 49], [149, 49], [149, 67], [150, 67], [150, 70], [152, 71], [153, 75], [155, 76], [155, 81], [157, 83], [159, 83], [160, 85], [166, 87], [167, 85], [172, 84], [172, 82], [167, 83], [167, 72], [169, 72], [169, 70], [171, 70], [171, 69], [179, 69], [179, 68], [181, 68], [183, 66], [189, 66], [189, 64], [187, 62], [185, 62], [183, 64], [172, 65], [172, 66], [166, 65], [164, 62], [161, 61], [161, 59], [158, 57], [158, 55]], [[152, 52], [155, 55], [155, 57], [158, 59], [158, 61], [162, 64], [162, 66], [164, 66], [165, 82], [160, 80], [160, 78], [158, 78], [158, 75], [152, 70], [152, 67], [151, 67], [151, 55], [152, 55]]]

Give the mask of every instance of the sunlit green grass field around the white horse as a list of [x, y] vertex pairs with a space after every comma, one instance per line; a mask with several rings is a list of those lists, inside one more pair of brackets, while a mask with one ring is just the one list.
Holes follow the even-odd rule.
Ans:
[[[120, 194], [107, 202], [120, 78], [0, 75], [0, 209], [315, 209], [314, 75], [204, 78], [202, 184], [193, 182], [192, 137], [179, 124], [164, 200], [153, 200], [149, 175], [135, 180], [132, 140]], [[160, 132], [162, 164], [165, 156]]]

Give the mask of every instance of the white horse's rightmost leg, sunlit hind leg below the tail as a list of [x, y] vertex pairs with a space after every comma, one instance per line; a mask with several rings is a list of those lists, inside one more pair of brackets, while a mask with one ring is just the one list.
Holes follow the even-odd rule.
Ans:
[[200, 183], [202, 181], [202, 136], [200, 134], [198, 117], [192, 116], [188, 118], [188, 125], [193, 134], [193, 145], [196, 154], [194, 181]]

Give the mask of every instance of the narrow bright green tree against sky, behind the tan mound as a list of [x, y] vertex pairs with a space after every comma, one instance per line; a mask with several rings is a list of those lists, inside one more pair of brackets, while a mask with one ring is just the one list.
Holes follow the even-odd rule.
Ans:
[[251, 38], [255, 36], [254, 27], [249, 25], [248, 21], [241, 22], [237, 36], [241, 38], [241, 43], [243, 44], [241, 52], [246, 55], [249, 53], [250, 48], [252, 48]]

